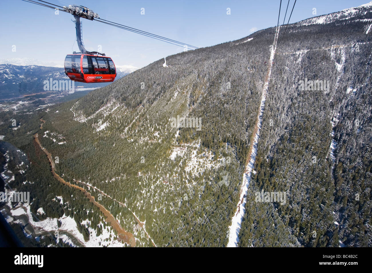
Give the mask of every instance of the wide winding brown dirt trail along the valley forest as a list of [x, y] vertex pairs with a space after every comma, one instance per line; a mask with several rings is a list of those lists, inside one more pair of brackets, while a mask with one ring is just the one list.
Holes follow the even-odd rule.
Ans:
[[[40, 125], [40, 129], [42, 129], [42, 125], [45, 123], [45, 121], [41, 118], [40, 119], [43, 123]], [[118, 237], [121, 238], [121, 240], [123, 240], [125, 243], [128, 243], [130, 244], [132, 247], [134, 247], [136, 245], [136, 241], [135, 241], [135, 238], [133, 236], [133, 234], [129, 233], [129, 232], [126, 232], [125, 230], [122, 229], [122, 227], [119, 225], [119, 223], [115, 220], [115, 218], [112, 216], [112, 214], [110, 214], [110, 212], [105, 208], [103, 207], [101, 204], [97, 203], [94, 199], [94, 196], [92, 196], [89, 192], [87, 192], [84, 188], [81, 188], [77, 185], [74, 185], [74, 184], [71, 184], [69, 182], [66, 182], [64, 179], [62, 179], [57, 173], [55, 173], [55, 165], [54, 165], [54, 161], [52, 159], [52, 155], [51, 153], [49, 153], [47, 151], [47, 149], [45, 149], [44, 147], [42, 147], [41, 143], [40, 143], [40, 140], [39, 140], [39, 135], [38, 133], [36, 133], [34, 135], [35, 137], [35, 141], [36, 143], [39, 145], [40, 149], [47, 155], [48, 157], [48, 160], [49, 160], [49, 163], [51, 165], [51, 171], [52, 171], [52, 174], [53, 176], [58, 180], [60, 181], [61, 183], [71, 187], [71, 188], [75, 188], [75, 189], [78, 189], [80, 190], [81, 192], [83, 192], [83, 194], [85, 196], [87, 196], [87, 198], [89, 199], [90, 202], [92, 202], [94, 205], [96, 205], [100, 211], [102, 211], [102, 213], [106, 216], [106, 222], [109, 222], [111, 224], [111, 226], [113, 228], [115, 228], [115, 230], [118, 232]]]

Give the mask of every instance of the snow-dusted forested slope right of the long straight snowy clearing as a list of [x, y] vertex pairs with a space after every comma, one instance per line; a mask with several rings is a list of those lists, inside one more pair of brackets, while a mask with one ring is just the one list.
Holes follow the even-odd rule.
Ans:
[[[247, 198], [241, 246], [282, 245], [264, 224], [278, 218], [304, 246], [371, 246], [371, 23], [367, 6], [288, 27], [251, 183], [253, 196], [285, 191], [287, 200]], [[329, 88], [301, 90], [305, 79]]]

